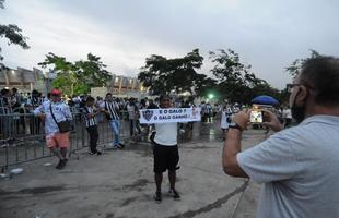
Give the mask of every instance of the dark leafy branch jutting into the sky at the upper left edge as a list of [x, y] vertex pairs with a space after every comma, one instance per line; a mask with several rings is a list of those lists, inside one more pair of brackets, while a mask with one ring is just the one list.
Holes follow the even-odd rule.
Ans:
[[[0, 8], [3, 9], [4, 0], [0, 0]], [[19, 28], [15, 24], [3, 25], [0, 24], [0, 37], [7, 38], [8, 45], [14, 44], [21, 46], [23, 49], [28, 49], [30, 46], [26, 43], [27, 37], [22, 35], [22, 29]], [[0, 47], [0, 52], [1, 52]], [[3, 60], [3, 57], [0, 55], [0, 61]]]

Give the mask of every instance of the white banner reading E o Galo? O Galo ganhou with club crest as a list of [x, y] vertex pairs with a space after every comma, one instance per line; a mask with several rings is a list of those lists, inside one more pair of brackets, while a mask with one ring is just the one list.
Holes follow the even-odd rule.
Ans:
[[140, 110], [140, 123], [170, 123], [200, 121], [201, 108], [167, 108]]

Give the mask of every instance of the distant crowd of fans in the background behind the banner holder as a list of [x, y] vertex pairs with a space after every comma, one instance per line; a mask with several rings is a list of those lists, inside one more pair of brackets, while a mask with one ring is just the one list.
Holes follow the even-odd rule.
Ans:
[[[66, 102], [72, 113], [81, 113], [82, 109], [85, 106], [87, 95], [79, 95], [62, 97], [62, 101]], [[50, 99], [50, 94], [45, 96], [44, 94], [33, 90], [32, 93], [19, 93], [17, 88], [12, 89], [1, 89], [0, 92], [0, 114], [10, 114], [10, 113], [32, 113], [34, 108], [40, 106], [44, 101]], [[105, 98], [95, 97], [94, 98], [94, 108], [100, 108], [100, 106], [105, 102]], [[118, 107], [119, 119], [129, 122], [129, 132], [131, 138], [137, 138], [141, 132], [149, 133], [150, 129], [148, 125], [140, 125], [139, 123], [139, 110], [140, 109], [155, 109], [159, 108], [159, 98], [118, 98], [114, 97], [112, 99]], [[249, 108], [250, 106], [242, 105], [238, 102], [235, 104], [211, 104], [201, 101], [199, 105], [196, 105], [194, 100], [177, 98], [173, 100], [173, 107], [175, 108], [189, 108], [189, 107], [200, 107], [201, 108], [201, 123], [208, 124], [212, 123], [215, 120], [220, 120], [221, 130], [224, 132], [227, 130], [227, 123], [231, 122], [231, 116], [236, 113], [244, 108]], [[290, 125], [292, 122], [291, 110], [288, 107], [284, 108], [270, 108], [285, 125]], [[100, 113], [96, 116], [96, 121], [100, 123], [105, 120], [105, 116]], [[0, 121], [1, 122], [1, 121]], [[38, 123], [38, 119], [32, 119], [31, 122]], [[22, 121], [24, 125], [24, 121]], [[180, 124], [182, 128], [184, 124]], [[185, 124], [188, 130], [192, 130], [192, 123]], [[261, 128], [260, 125], [255, 128]], [[39, 132], [40, 128], [36, 128], [35, 132]]]

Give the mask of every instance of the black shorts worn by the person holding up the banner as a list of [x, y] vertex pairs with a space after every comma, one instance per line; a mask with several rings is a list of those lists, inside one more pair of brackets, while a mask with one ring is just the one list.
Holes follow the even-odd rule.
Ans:
[[178, 146], [165, 146], [154, 143], [154, 172], [175, 171], [179, 162]]

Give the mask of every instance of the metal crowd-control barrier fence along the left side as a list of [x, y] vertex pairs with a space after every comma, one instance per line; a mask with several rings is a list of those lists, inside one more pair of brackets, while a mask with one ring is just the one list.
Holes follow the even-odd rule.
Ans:
[[[70, 134], [71, 145], [69, 155], [84, 147], [89, 147], [89, 135], [81, 113], [75, 111], [72, 114], [73, 130]], [[100, 133], [98, 146], [105, 148], [113, 141], [113, 131], [108, 121], [102, 116], [98, 116], [97, 120]], [[122, 119], [120, 137], [127, 141], [129, 134], [128, 121]], [[2, 172], [10, 166], [51, 156], [45, 143], [44, 122], [33, 113], [26, 111], [13, 111], [12, 113], [0, 114], [0, 168]]]

